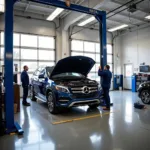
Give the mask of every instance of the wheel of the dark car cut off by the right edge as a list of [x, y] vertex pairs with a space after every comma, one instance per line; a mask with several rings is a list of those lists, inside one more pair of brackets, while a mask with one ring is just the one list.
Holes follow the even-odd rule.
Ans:
[[150, 104], [150, 92], [149, 90], [143, 90], [141, 92], [141, 100], [144, 104]]

